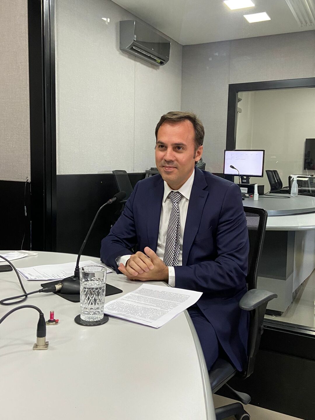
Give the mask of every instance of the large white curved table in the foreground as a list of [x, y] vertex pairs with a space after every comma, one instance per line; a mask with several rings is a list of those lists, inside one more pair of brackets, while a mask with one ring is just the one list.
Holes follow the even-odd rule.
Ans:
[[[87, 259], [99, 261], [81, 257], [81, 261]], [[39, 252], [13, 264], [26, 267], [75, 260], [71, 254]], [[115, 273], [108, 274], [107, 282], [124, 293], [142, 284]], [[37, 290], [39, 283], [24, 281], [24, 287]], [[1, 298], [21, 294], [14, 271], [0, 273], [0, 290]], [[34, 294], [24, 304], [38, 306], [46, 320], [54, 310], [60, 321], [47, 326], [49, 349], [45, 351], [32, 350], [37, 311], [16, 311], [0, 325], [4, 420], [215, 419], [205, 360], [186, 311], [158, 329], [117, 318], [83, 327], [74, 323], [79, 303], [54, 294]], [[15, 306], [0, 306], [0, 317]]]

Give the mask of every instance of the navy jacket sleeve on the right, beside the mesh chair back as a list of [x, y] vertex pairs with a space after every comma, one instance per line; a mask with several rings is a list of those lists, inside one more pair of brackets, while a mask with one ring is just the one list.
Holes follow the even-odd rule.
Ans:
[[204, 293], [235, 293], [244, 289], [249, 242], [241, 194], [236, 184], [228, 187], [223, 198], [215, 239], [217, 256], [214, 260], [175, 267], [176, 287]]

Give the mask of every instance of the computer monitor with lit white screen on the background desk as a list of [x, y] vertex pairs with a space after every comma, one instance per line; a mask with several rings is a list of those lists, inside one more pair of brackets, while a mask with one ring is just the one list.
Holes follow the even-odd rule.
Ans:
[[224, 150], [223, 172], [240, 175], [241, 181], [248, 183], [251, 176], [264, 176], [264, 158], [265, 150]]

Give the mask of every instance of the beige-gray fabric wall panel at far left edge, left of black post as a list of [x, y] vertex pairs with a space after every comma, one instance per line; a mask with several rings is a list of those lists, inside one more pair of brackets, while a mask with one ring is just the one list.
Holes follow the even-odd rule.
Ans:
[[0, 179], [30, 178], [27, 0], [0, 2]]

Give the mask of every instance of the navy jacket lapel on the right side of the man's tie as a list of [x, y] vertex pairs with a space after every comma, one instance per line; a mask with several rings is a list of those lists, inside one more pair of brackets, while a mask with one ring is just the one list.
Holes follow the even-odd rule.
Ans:
[[200, 225], [203, 207], [205, 206], [208, 195], [208, 192], [204, 191], [207, 185], [202, 171], [196, 168], [185, 223], [182, 265], [186, 265], [187, 263], [190, 248]]

